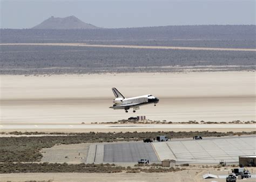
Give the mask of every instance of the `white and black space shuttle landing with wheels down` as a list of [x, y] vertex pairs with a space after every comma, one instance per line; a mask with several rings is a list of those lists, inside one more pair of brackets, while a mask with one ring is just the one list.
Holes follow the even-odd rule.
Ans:
[[128, 113], [130, 108], [133, 108], [133, 113], [139, 109], [140, 106], [144, 106], [146, 104], [156, 104], [159, 102], [157, 97], [153, 95], [142, 95], [137, 97], [125, 98], [116, 88], [112, 88], [113, 94], [116, 99], [113, 100], [113, 106], [109, 107], [112, 109], [124, 109], [125, 113]]

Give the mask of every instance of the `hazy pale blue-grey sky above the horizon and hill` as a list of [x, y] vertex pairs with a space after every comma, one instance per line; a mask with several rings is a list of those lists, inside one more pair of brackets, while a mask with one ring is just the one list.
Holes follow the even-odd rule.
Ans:
[[255, 24], [254, 0], [60, 1], [0, 0], [1, 27], [33, 27], [55, 16], [74, 15], [99, 27]]

